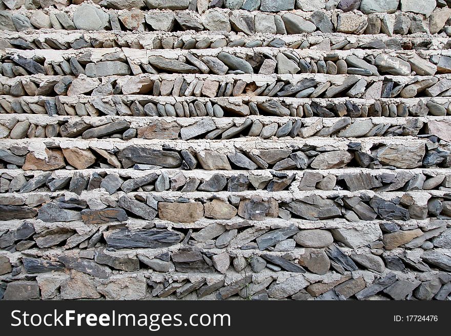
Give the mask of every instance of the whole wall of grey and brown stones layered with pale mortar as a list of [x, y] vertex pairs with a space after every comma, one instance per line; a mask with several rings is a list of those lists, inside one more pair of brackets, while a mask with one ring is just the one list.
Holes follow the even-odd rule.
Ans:
[[0, 299], [449, 300], [450, 17], [0, 1]]

